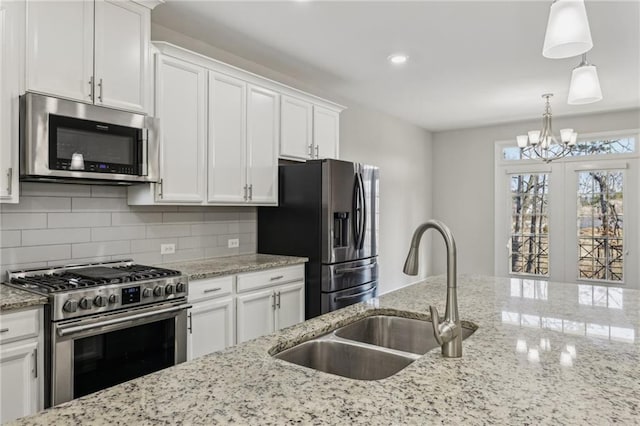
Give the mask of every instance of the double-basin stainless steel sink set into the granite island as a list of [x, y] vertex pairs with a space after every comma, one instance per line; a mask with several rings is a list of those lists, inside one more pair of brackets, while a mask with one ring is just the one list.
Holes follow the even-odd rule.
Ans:
[[[475, 328], [462, 326], [462, 339]], [[357, 380], [393, 376], [440, 345], [429, 321], [376, 315], [301, 343], [274, 357]]]

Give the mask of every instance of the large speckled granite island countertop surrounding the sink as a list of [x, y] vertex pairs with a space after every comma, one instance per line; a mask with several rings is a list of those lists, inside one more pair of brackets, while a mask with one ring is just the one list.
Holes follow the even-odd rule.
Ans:
[[638, 291], [479, 276], [458, 281], [460, 316], [478, 326], [459, 359], [434, 350], [387, 379], [358, 381], [269, 354], [377, 312], [426, 318], [429, 303], [443, 312], [440, 276], [18, 424], [638, 422]]

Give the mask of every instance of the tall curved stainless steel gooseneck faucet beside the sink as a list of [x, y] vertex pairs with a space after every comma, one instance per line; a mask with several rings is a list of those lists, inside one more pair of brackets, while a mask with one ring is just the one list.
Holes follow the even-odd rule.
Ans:
[[462, 328], [458, 316], [458, 289], [456, 285], [456, 242], [451, 230], [439, 220], [430, 220], [418, 228], [411, 238], [411, 247], [404, 263], [404, 273], [418, 275], [418, 254], [420, 239], [427, 229], [435, 229], [442, 235], [447, 246], [447, 307], [444, 312], [444, 322], [440, 323], [440, 316], [435, 306], [430, 305], [433, 334], [442, 347], [442, 356], [446, 358], [460, 358], [462, 356]]

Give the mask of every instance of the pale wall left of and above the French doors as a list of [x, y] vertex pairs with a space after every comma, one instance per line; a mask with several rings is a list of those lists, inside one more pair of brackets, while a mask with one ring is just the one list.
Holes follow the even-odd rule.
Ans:
[[[640, 128], [640, 110], [554, 118], [556, 131]], [[451, 228], [458, 272], [494, 274], [494, 144], [541, 126], [533, 120], [433, 134], [433, 215]], [[444, 244], [434, 243], [433, 273], [445, 271]]]

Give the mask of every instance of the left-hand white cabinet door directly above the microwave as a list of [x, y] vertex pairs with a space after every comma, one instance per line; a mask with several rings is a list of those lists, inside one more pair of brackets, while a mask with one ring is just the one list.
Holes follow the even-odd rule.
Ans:
[[92, 103], [93, 1], [27, 1], [26, 7], [26, 89]]

